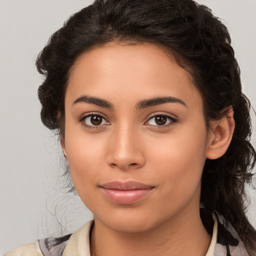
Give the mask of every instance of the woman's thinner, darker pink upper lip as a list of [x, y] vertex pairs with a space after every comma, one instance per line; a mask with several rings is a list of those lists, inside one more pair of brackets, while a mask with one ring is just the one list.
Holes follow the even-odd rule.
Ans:
[[106, 189], [116, 189], [116, 190], [135, 190], [135, 189], [152, 189], [154, 186], [143, 184], [136, 181], [111, 181], [107, 182], [101, 187]]

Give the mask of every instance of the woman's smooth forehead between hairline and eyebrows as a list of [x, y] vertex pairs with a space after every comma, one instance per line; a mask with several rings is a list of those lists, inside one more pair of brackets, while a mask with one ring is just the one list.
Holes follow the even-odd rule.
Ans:
[[82, 94], [128, 103], [152, 96], [201, 97], [190, 74], [154, 44], [109, 43], [82, 53], [67, 83], [66, 97]]

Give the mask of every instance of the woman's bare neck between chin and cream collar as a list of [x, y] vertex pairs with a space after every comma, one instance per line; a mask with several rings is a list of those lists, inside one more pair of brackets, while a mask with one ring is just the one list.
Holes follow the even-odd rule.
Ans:
[[183, 213], [150, 230], [119, 232], [105, 226], [95, 218], [91, 232], [91, 256], [149, 256], [196, 255], [204, 256], [210, 243], [199, 216]]

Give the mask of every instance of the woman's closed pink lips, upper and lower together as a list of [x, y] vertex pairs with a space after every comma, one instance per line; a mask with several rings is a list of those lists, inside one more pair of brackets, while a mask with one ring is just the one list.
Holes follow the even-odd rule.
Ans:
[[100, 186], [103, 194], [118, 204], [135, 203], [147, 196], [154, 186], [136, 181], [112, 181]]

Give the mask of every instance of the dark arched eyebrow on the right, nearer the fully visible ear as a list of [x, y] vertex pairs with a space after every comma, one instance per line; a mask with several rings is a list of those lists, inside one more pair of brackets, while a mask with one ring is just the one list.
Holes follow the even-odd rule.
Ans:
[[160, 105], [164, 103], [180, 103], [184, 106], [187, 106], [183, 100], [176, 97], [168, 96], [168, 97], [153, 97], [153, 98], [141, 100], [137, 103], [136, 108], [140, 110], [149, 106], [155, 106], [155, 105]]

